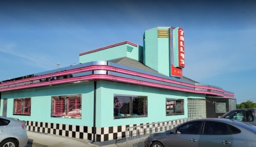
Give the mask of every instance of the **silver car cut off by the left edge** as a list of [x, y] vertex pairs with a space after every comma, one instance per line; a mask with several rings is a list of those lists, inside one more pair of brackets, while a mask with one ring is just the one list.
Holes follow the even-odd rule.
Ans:
[[27, 142], [25, 121], [0, 116], [0, 147], [23, 147]]

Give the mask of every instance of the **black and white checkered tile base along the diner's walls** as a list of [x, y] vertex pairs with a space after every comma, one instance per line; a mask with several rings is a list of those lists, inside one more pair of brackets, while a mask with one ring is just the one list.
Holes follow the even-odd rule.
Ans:
[[[96, 138], [97, 142], [104, 142], [110, 140], [116, 140], [117, 138], [126, 137], [126, 129], [132, 128], [136, 129], [136, 126], [140, 128], [149, 127], [151, 129], [157, 129], [157, 126], [165, 124], [181, 124], [185, 122], [185, 119], [175, 120], [175, 121], [165, 121], [162, 123], [146, 123], [146, 124], [134, 124], [134, 125], [124, 125], [124, 126], [113, 126], [113, 127], [102, 127], [96, 128]], [[153, 124], [153, 125], [152, 125]], [[93, 127], [87, 126], [76, 126], [76, 125], [65, 125], [65, 124], [54, 124], [54, 123], [43, 123], [38, 121], [27, 121], [27, 130], [39, 133], [60, 135], [66, 137], [80, 138], [84, 140], [93, 140], [94, 129]]]

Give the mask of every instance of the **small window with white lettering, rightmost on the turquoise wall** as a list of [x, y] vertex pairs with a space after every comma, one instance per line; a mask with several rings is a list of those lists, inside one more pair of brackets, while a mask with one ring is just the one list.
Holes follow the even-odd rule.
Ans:
[[[176, 103], [177, 101], [180, 101], [180, 113], [177, 113], [176, 111]], [[173, 99], [173, 98], [166, 98], [165, 99], [165, 115], [166, 116], [177, 116], [177, 115], [184, 115], [185, 114], [185, 107], [184, 107], [185, 100], [184, 99]], [[173, 109], [173, 113], [168, 112], [172, 111], [170, 109]]]

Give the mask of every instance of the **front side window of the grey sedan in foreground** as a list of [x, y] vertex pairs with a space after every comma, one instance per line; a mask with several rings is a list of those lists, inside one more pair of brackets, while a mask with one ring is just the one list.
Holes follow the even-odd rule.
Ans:
[[177, 128], [180, 134], [199, 134], [202, 128], [202, 121], [191, 121]]

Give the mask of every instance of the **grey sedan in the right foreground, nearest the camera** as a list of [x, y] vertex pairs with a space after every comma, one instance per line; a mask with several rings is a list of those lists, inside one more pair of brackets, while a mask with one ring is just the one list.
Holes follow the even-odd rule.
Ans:
[[241, 121], [207, 118], [187, 121], [171, 130], [150, 134], [147, 147], [256, 146], [256, 127]]

